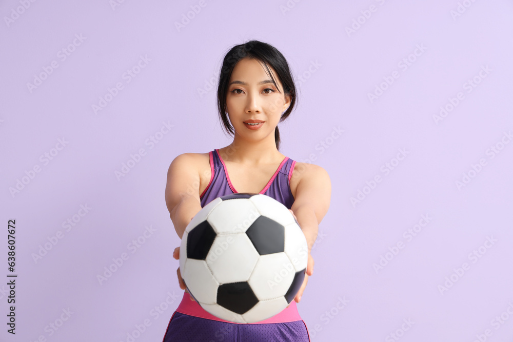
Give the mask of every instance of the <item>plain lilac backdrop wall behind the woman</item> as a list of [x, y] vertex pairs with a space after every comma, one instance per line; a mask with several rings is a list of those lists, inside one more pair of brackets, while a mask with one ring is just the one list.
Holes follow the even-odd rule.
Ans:
[[[162, 340], [183, 293], [172, 258], [180, 240], [164, 200], [167, 169], [178, 154], [231, 142], [216, 113], [215, 80], [226, 51], [254, 38], [282, 51], [299, 89], [297, 108], [280, 124], [281, 152], [322, 166], [332, 182], [312, 250], [315, 271], [298, 305], [311, 339], [512, 341], [511, 1], [199, 4], [0, 3], [0, 207], [4, 227], [16, 219], [18, 274], [15, 336], [6, 332], [7, 286], [0, 285], [0, 340], [127, 341], [145, 320], [135, 340]], [[201, 11], [178, 30], [191, 6]], [[84, 41], [63, 61], [57, 53], [75, 35]], [[417, 46], [425, 50], [411, 55]], [[127, 83], [123, 74], [141, 55], [150, 61]], [[415, 61], [404, 70], [399, 63], [408, 57]], [[52, 61], [58, 68], [30, 91], [27, 83]], [[483, 66], [489, 71], [480, 78]], [[368, 93], [394, 71], [399, 77], [371, 102]], [[480, 83], [468, 92], [474, 77]], [[95, 113], [92, 105], [118, 82], [124, 88]], [[463, 99], [436, 122], [459, 92]], [[173, 127], [146, 144], [163, 122]], [[334, 127], [344, 130], [336, 139]], [[45, 165], [40, 156], [63, 137], [68, 144]], [[496, 145], [502, 149], [492, 158]], [[118, 179], [140, 149], [146, 155]], [[400, 149], [406, 157], [385, 174]], [[486, 165], [458, 188], [481, 158]], [[41, 172], [12, 195], [35, 165]], [[382, 181], [364, 189], [376, 175]], [[367, 194], [353, 205], [359, 190]], [[66, 231], [63, 222], [81, 205], [91, 209]], [[409, 240], [403, 233], [422, 215], [429, 223]], [[132, 253], [129, 244], [150, 226]], [[34, 261], [58, 231], [63, 237]], [[496, 240], [490, 248], [487, 237]], [[100, 284], [97, 275], [122, 253], [128, 259]], [[393, 258], [376, 271], [381, 256]], [[440, 290], [451, 275], [457, 281]], [[168, 293], [178, 297], [169, 305]], [[165, 310], [156, 316], [159, 306]], [[69, 319], [50, 329], [68, 308]]]

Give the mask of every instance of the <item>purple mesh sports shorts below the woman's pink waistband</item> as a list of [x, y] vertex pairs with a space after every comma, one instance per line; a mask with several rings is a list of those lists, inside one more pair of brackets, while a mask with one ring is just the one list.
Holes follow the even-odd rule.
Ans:
[[287, 323], [236, 324], [190, 316], [175, 311], [169, 320], [163, 342], [309, 342], [303, 320]]

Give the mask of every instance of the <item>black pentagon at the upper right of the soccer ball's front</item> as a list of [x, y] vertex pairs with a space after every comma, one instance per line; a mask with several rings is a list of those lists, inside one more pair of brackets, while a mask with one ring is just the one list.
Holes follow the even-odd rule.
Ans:
[[285, 250], [285, 227], [269, 217], [259, 216], [246, 230], [246, 235], [260, 255]]

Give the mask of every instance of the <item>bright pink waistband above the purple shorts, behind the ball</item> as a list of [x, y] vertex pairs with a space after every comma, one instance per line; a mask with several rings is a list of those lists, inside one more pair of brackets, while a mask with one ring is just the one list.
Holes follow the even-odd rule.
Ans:
[[[216, 316], [208, 313], [198, 303], [196, 303], [195, 300], [190, 299], [190, 295], [185, 291], [184, 291], [184, 296], [182, 297], [182, 301], [180, 302], [180, 305], [178, 306], [178, 308], [176, 308], [176, 311], [186, 314], [186, 315], [190, 315], [190, 316], [219, 320], [221, 322], [226, 322], [226, 323], [235, 323], [235, 322], [221, 319], [219, 317], [216, 317]], [[249, 324], [287, 323], [287, 322], [293, 322], [293, 321], [301, 320], [301, 319], [302, 318], [299, 315], [298, 307], [295, 304], [295, 301], [292, 300], [290, 302], [289, 307], [283, 309], [280, 313], [277, 313], [274, 316], [269, 317], [267, 319], [261, 320], [260, 322], [249, 323]], [[241, 324], [241, 323], [235, 323], [235, 324]]]

